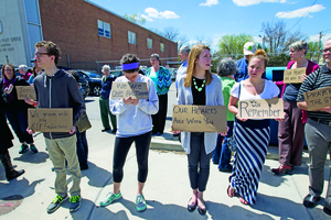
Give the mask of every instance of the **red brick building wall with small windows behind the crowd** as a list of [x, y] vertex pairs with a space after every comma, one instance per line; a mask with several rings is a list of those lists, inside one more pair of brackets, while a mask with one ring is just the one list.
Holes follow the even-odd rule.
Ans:
[[[160, 58], [177, 57], [177, 43], [88, 1], [39, 1], [43, 38], [60, 46], [60, 66], [67, 67], [70, 62], [71, 68], [97, 70], [96, 62], [119, 61], [126, 53], [137, 54], [140, 59], [148, 59], [152, 53], [158, 53]], [[98, 35], [97, 20], [110, 24], [111, 38]], [[137, 45], [128, 43], [128, 31], [136, 33]], [[153, 48], [147, 48], [147, 37], [152, 38]], [[161, 42], [164, 44], [164, 52], [160, 51]], [[148, 61], [141, 62], [141, 65], [150, 66]]]

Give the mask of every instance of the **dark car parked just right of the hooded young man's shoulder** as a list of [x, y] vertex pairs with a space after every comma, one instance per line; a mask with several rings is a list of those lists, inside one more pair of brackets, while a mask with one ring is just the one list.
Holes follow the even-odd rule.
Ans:
[[102, 89], [102, 76], [93, 70], [76, 70], [81, 79], [88, 81], [89, 94], [94, 96], [100, 96]]

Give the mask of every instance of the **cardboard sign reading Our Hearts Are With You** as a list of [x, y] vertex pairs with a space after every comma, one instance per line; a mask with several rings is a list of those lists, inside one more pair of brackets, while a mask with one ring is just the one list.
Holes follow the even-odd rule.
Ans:
[[173, 105], [172, 130], [190, 132], [226, 132], [226, 107]]

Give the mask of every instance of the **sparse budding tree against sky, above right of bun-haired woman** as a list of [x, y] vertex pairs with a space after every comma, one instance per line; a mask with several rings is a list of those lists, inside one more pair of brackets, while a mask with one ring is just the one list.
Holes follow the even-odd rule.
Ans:
[[305, 38], [305, 35], [302, 35], [300, 31], [291, 33], [290, 30], [286, 30], [286, 23], [284, 21], [276, 23], [263, 22], [261, 32], [264, 32], [266, 45], [271, 55], [288, 52], [288, 47], [291, 43]]

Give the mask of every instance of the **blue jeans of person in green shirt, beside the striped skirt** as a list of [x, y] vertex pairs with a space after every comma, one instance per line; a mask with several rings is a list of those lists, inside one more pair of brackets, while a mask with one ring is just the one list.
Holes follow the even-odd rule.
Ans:
[[[233, 135], [233, 121], [227, 121], [228, 131], [226, 136], [222, 136], [221, 134], [217, 135], [217, 143], [213, 152], [212, 160], [214, 164], [218, 163], [220, 169], [231, 168], [231, 148], [228, 147], [227, 139], [229, 139]], [[224, 142], [222, 144], [223, 138]]]

